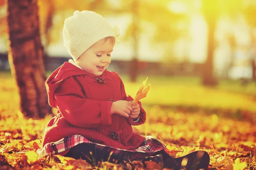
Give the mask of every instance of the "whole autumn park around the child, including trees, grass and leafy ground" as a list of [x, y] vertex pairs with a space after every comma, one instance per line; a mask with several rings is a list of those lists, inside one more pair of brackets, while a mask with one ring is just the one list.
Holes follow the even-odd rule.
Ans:
[[[56, 114], [45, 80], [71, 59], [62, 29], [76, 10], [119, 26], [108, 70], [127, 94], [151, 83], [141, 100], [147, 121], [134, 132], [176, 156], [203, 149], [217, 170], [256, 168], [256, 0], [0, 0], [0, 166], [26, 169], [29, 159], [16, 158], [42, 144]], [[28, 168], [54, 168], [53, 160]]]

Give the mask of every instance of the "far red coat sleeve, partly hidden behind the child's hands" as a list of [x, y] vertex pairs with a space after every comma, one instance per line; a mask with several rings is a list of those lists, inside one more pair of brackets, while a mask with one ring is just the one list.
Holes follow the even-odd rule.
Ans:
[[[117, 73], [115, 73], [115, 74], [117, 74]], [[120, 77], [119, 77], [119, 79], [120, 79], [122, 100], [133, 101], [134, 99], [130, 95], [126, 95], [126, 93], [125, 93], [125, 85], [122, 82], [122, 79]], [[138, 102], [138, 104], [140, 105], [140, 115], [139, 115], [140, 118], [139, 119], [132, 119], [131, 117], [128, 117], [127, 120], [128, 120], [128, 122], [131, 125], [141, 125], [141, 124], [145, 123], [145, 121], [146, 121], [146, 112], [143, 109], [140, 101]]]

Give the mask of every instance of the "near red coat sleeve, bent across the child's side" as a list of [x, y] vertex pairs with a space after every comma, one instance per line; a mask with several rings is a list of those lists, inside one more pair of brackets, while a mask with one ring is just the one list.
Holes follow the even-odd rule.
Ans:
[[56, 108], [71, 125], [96, 128], [111, 125], [111, 101], [86, 99], [79, 83], [69, 77], [55, 91]]

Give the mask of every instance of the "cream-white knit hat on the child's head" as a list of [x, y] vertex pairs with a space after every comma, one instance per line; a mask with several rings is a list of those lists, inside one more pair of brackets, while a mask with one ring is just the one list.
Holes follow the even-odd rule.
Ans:
[[105, 37], [115, 37], [119, 41], [119, 28], [112, 28], [105, 18], [93, 11], [75, 11], [64, 21], [64, 46], [75, 62], [84, 51]]

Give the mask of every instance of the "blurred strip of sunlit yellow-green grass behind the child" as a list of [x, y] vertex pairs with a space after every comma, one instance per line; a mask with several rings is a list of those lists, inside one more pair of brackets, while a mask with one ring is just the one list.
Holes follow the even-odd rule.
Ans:
[[[135, 97], [137, 90], [146, 77], [140, 76], [136, 83], [129, 82], [127, 75], [120, 75], [126, 93]], [[4, 101], [13, 91], [17, 100], [17, 88], [14, 78], [9, 72], [0, 72], [1, 100]], [[141, 102], [145, 105], [187, 106], [198, 108], [220, 108], [231, 110], [256, 111], [256, 84], [250, 82], [241, 86], [240, 81], [220, 80], [215, 88], [201, 85], [199, 77], [163, 77], [149, 76], [151, 89]], [[1, 102], [1, 101], [0, 101]]]

